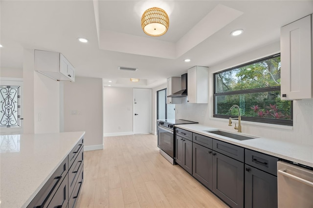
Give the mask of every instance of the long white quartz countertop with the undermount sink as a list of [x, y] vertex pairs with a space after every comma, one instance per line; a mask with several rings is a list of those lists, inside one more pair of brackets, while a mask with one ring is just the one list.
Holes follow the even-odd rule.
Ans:
[[[258, 135], [248, 135], [245, 133], [238, 133], [243, 136], [253, 136], [255, 139], [249, 140], [236, 140], [228, 137], [220, 136], [217, 134], [206, 132], [214, 131], [214, 130], [222, 130], [206, 125], [200, 124], [186, 124], [186, 125], [175, 125], [176, 127], [192, 131], [204, 136], [208, 136], [217, 140], [221, 140], [224, 142], [228, 142], [230, 144], [234, 144], [237, 146], [242, 146], [245, 148], [249, 148], [258, 152], [263, 152], [268, 155], [272, 155], [278, 158], [282, 158], [285, 160], [289, 160], [291, 162], [295, 162], [298, 164], [302, 164], [305, 166], [313, 167], [313, 146], [312, 145], [300, 145], [291, 142], [275, 140], [270, 138], [258, 137]], [[227, 131], [230, 132], [230, 131]], [[237, 132], [231, 132], [237, 133]]]

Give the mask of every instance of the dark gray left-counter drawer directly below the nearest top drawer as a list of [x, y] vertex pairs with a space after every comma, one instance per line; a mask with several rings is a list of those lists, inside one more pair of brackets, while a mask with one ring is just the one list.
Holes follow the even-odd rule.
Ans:
[[47, 208], [66, 208], [68, 202], [68, 175], [65, 177]]

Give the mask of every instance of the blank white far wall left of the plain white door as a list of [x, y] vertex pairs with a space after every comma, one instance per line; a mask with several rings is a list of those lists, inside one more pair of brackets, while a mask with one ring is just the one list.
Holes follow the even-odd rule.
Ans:
[[133, 134], [133, 88], [103, 89], [104, 136]]

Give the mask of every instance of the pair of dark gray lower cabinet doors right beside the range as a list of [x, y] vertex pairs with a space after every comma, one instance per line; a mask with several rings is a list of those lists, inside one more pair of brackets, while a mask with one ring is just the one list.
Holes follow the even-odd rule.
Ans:
[[192, 174], [192, 142], [178, 135], [176, 138], [175, 162]]

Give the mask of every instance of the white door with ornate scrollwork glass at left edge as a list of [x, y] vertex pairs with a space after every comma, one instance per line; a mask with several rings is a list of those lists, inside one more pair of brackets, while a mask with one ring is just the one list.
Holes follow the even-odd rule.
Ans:
[[23, 82], [0, 80], [0, 134], [23, 133]]

